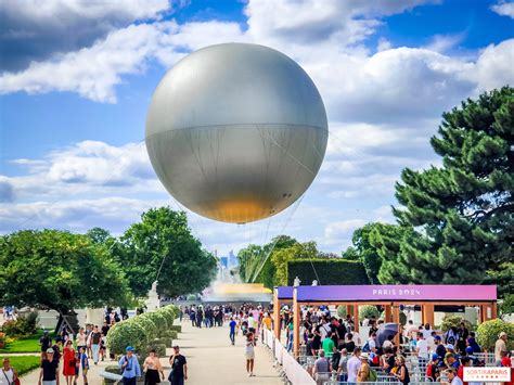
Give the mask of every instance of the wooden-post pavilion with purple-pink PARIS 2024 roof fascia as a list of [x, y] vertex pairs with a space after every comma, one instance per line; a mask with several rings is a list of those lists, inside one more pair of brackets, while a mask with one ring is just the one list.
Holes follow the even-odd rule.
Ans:
[[[359, 306], [382, 305], [386, 322], [400, 322], [400, 305], [419, 305], [422, 322], [434, 325], [434, 306], [461, 305], [479, 308], [480, 322], [497, 318], [496, 285], [326, 285], [278, 286], [273, 293], [274, 335], [280, 339], [280, 311], [292, 303], [294, 311], [293, 350], [299, 352], [301, 306], [346, 306], [359, 331]], [[399, 335], [397, 334], [397, 344]]]

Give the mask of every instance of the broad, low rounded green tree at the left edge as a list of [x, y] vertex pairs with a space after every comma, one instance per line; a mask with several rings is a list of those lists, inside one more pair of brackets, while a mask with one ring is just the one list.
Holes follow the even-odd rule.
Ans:
[[66, 231], [24, 230], [0, 238], [0, 303], [53, 309], [123, 306], [130, 290], [103, 245]]

